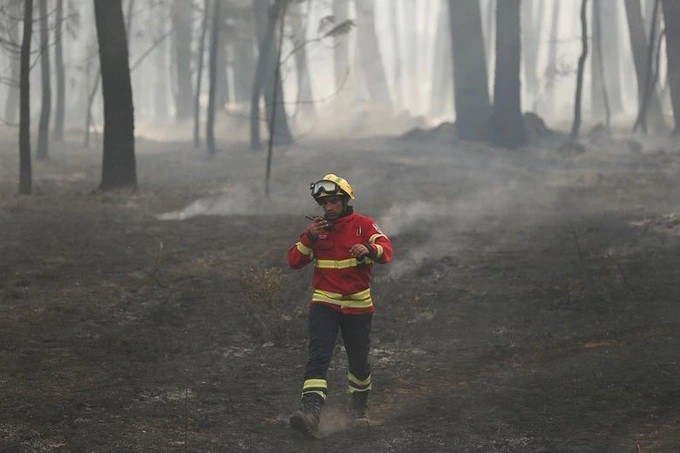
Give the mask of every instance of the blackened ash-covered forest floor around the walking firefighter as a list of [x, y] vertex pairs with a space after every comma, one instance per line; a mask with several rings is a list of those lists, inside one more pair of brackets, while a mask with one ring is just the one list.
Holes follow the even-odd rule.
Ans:
[[[680, 144], [517, 151], [390, 138], [266, 153], [140, 140], [138, 193], [53, 145], [0, 153], [0, 450], [680, 451]], [[634, 149], [633, 149], [634, 148]], [[332, 362], [324, 438], [286, 424], [311, 269], [285, 253], [335, 172], [391, 237], [373, 425]]]

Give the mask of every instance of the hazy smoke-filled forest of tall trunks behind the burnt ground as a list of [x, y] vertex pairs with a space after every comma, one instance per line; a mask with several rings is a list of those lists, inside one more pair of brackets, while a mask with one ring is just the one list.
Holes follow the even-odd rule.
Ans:
[[2, 121], [23, 137], [20, 191], [31, 143], [45, 159], [64, 134], [103, 142], [103, 189], [136, 185], [134, 134], [193, 139], [209, 155], [245, 130], [270, 155], [296, 137], [450, 122], [452, 140], [507, 148], [547, 127], [572, 142], [582, 127], [667, 134], [680, 106], [679, 10], [670, 0], [3, 0]]

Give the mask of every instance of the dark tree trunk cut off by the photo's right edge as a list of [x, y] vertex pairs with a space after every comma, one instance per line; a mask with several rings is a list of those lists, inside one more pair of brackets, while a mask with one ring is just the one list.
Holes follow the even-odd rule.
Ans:
[[675, 127], [673, 133], [680, 133], [680, 2], [662, 0], [666, 25], [666, 58], [668, 59], [668, 84], [671, 90], [671, 105]]

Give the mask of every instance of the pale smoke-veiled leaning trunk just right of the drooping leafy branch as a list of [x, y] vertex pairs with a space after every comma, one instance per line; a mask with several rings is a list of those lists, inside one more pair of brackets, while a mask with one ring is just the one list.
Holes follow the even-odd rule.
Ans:
[[392, 109], [390, 93], [387, 89], [385, 68], [378, 48], [375, 34], [374, 0], [356, 0], [357, 43], [359, 62], [366, 80], [366, 88], [372, 102]]

